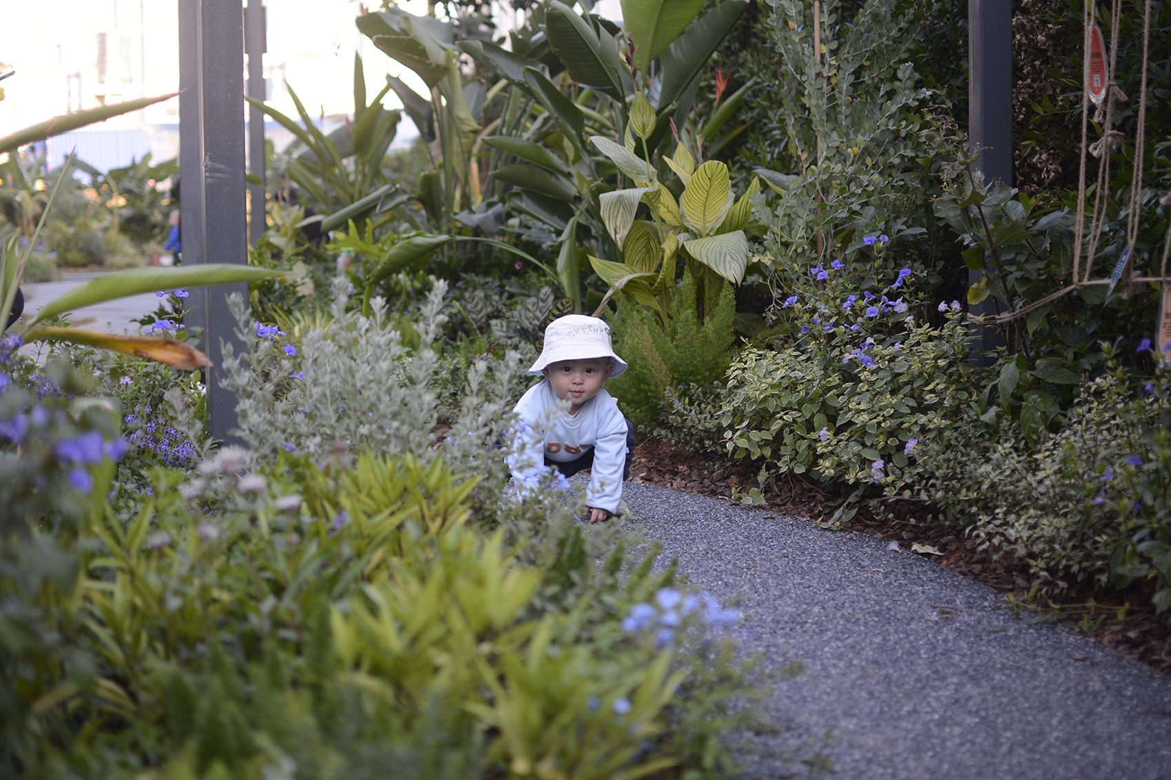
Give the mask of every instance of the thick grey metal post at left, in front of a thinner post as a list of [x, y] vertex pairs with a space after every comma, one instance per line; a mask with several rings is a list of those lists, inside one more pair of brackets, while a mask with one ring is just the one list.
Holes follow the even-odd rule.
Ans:
[[[244, 15], [240, 0], [179, 0], [179, 225], [184, 265], [247, 265], [248, 226], [244, 178]], [[187, 321], [204, 329], [207, 429], [214, 439], [240, 444], [235, 394], [220, 386], [222, 344], [237, 355], [247, 347], [235, 335], [227, 296], [245, 283], [191, 290]]]

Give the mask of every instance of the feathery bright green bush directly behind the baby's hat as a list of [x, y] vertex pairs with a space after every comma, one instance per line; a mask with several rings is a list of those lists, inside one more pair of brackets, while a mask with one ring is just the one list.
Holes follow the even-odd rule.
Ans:
[[663, 399], [669, 388], [710, 385], [724, 379], [735, 342], [732, 286], [724, 283], [715, 309], [703, 323], [696, 310], [696, 283], [686, 271], [671, 300], [665, 334], [649, 309], [625, 300], [618, 303], [615, 351], [629, 368], [608, 382], [607, 390], [642, 432], [655, 431], [665, 422]]

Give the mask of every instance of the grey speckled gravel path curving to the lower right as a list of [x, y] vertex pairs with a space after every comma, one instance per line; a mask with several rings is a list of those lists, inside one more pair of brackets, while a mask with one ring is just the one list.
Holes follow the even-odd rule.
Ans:
[[812, 774], [796, 750], [834, 778], [1171, 778], [1171, 678], [865, 534], [649, 485], [623, 498], [664, 565], [741, 600], [769, 670], [807, 666], [776, 676], [783, 732], [748, 776]]

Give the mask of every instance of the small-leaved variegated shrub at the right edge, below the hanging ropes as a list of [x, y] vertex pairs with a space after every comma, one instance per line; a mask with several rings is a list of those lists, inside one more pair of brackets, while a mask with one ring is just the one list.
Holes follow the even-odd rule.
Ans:
[[[1105, 351], [1114, 361], [1112, 348]], [[1171, 385], [1160, 370], [1135, 389], [1114, 365], [1082, 388], [1064, 425], [1035, 446], [1015, 425], [989, 431], [973, 408], [953, 440], [918, 451], [933, 477], [917, 494], [972, 525], [981, 549], [1028, 561], [1050, 595], [1138, 581], [1163, 611], [1171, 605]]]

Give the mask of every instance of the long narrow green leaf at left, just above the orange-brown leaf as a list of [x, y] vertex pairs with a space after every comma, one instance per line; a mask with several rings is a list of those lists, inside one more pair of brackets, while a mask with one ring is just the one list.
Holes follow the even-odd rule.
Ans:
[[252, 282], [280, 276], [281, 272], [268, 268], [251, 268], [230, 262], [191, 265], [180, 268], [128, 268], [91, 279], [75, 287], [61, 297], [49, 301], [29, 321], [35, 323], [95, 303], [114, 301], [139, 293], [157, 293], [179, 287], [210, 287], [231, 282]]

